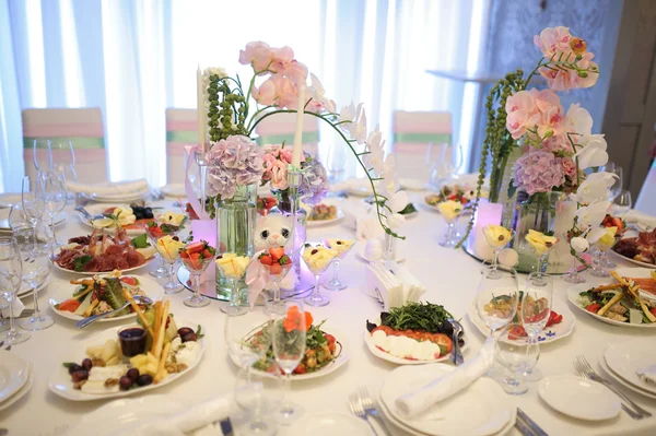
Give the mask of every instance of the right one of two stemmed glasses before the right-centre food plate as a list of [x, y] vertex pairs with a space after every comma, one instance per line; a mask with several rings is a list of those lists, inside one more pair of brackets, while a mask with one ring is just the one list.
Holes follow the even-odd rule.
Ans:
[[[524, 330], [528, 335], [529, 346], [538, 347], [538, 335], [544, 330], [549, 317], [551, 316], [551, 305], [553, 304], [553, 278], [548, 274], [531, 272], [526, 280], [526, 288], [522, 296], [522, 314], [520, 320]], [[538, 358], [529, 360], [529, 349], [526, 349], [526, 362], [524, 370], [524, 379], [528, 381], [538, 381], [542, 378], [542, 374], [535, 365]]]

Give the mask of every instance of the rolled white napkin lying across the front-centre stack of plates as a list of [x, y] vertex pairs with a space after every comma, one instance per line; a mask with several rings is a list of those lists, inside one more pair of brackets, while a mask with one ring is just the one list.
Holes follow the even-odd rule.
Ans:
[[397, 398], [396, 406], [399, 412], [410, 419], [467, 388], [482, 377], [494, 363], [494, 338], [489, 338], [476, 357], [419, 390]]

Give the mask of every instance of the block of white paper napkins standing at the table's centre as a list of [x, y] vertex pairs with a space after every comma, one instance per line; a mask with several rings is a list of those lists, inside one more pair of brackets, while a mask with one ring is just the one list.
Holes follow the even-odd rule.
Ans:
[[366, 287], [383, 299], [385, 310], [408, 302], [419, 302], [426, 288], [403, 266], [394, 261], [371, 262], [366, 267]]

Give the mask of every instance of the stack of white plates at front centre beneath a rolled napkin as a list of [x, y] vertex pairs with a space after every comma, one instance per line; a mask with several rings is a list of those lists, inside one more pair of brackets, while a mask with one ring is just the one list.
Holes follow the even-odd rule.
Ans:
[[380, 390], [379, 404], [385, 416], [399, 428], [415, 436], [503, 435], [514, 425], [517, 409], [491, 378], [482, 377], [448, 400], [406, 419], [395, 401], [400, 396], [454, 370], [444, 365], [400, 366], [389, 374]]

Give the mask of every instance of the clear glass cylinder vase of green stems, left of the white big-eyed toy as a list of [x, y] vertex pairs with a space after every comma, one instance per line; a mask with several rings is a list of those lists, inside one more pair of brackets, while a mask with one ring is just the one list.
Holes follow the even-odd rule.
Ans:
[[[218, 254], [234, 252], [238, 256], [251, 257], [255, 254], [256, 186], [238, 186], [232, 199], [216, 202], [216, 249]], [[215, 267], [219, 268], [219, 267]], [[236, 288], [239, 294], [246, 290], [244, 280], [239, 280]], [[233, 286], [216, 271], [216, 295], [230, 299]], [[239, 304], [247, 302], [241, 301]]]

